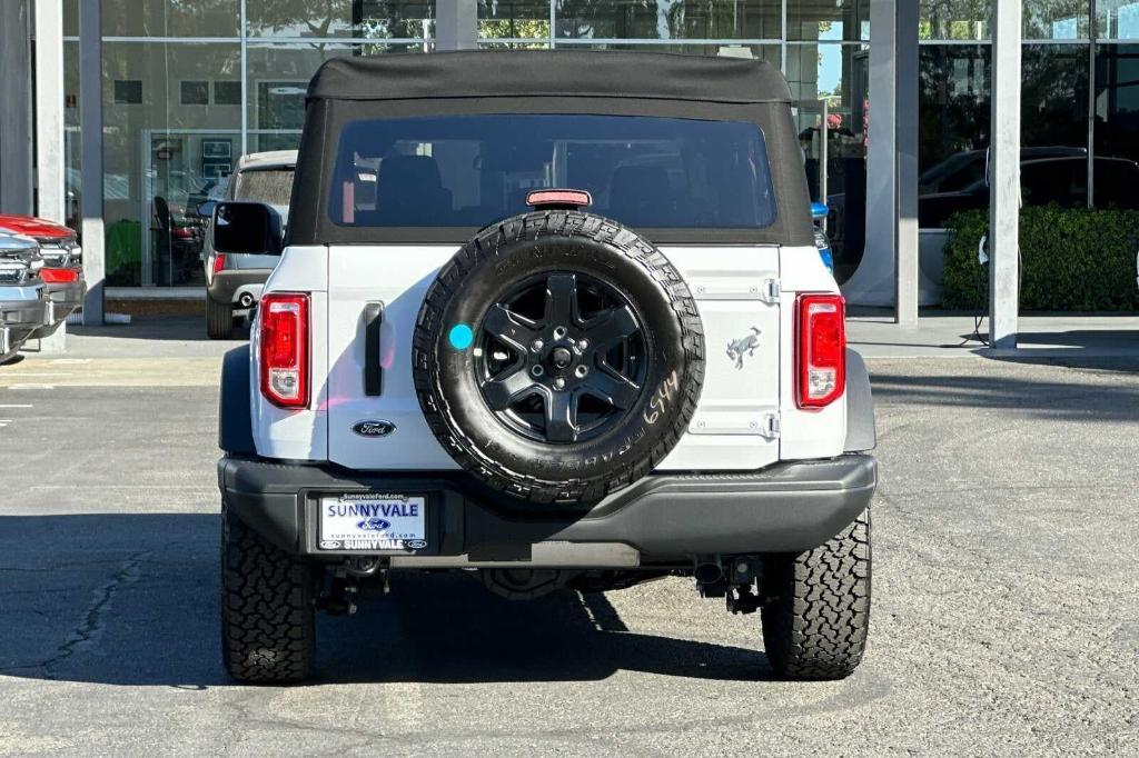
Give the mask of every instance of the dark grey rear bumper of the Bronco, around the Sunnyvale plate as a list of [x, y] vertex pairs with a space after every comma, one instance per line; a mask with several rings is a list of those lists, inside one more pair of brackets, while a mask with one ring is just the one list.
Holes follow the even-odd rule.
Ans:
[[228, 508], [297, 554], [317, 547], [322, 494], [426, 494], [428, 546], [393, 559], [407, 567], [521, 563], [558, 567], [690, 566], [702, 555], [794, 553], [842, 532], [869, 505], [875, 459], [786, 462], [748, 473], [652, 476], [584, 510], [523, 508], [475, 492], [465, 475], [368, 475], [335, 467], [223, 458]]

